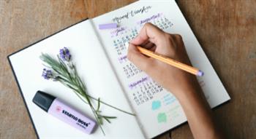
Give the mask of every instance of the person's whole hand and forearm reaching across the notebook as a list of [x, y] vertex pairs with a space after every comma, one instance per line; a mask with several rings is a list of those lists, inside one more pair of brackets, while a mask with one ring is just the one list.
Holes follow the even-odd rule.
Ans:
[[200, 94], [202, 91], [195, 76], [152, 57], [146, 57], [136, 46], [189, 64], [182, 37], [165, 33], [151, 23], [146, 23], [138, 36], [130, 41], [127, 58], [162, 87], [173, 92], [184, 109], [195, 138], [220, 138], [214, 126], [211, 108], [203, 94]]

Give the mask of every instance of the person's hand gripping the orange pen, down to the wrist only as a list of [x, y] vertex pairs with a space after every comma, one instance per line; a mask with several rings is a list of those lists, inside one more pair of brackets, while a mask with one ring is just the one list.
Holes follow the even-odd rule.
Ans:
[[165, 33], [151, 23], [146, 23], [138, 36], [129, 42], [127, 58], [176, 97], [188, 90], [198, 89], [199, 85], [195, 76], [152, 57], [147, 57], [135, 46], [150, 49], [159, 55], [191, 65], [180, 35]]

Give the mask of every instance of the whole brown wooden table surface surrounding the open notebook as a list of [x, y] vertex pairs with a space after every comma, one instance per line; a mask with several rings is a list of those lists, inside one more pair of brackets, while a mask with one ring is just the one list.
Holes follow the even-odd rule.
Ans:
[[[36, 138], [7, 55], [131, 2], [0, 0], [0, 138]], [[227, 138], [256, 138], [256, 1], [177, 2], [231, 97], [214, 109], [221, 130]], [[183, 124], [159, 138], [192, 138], [192, 134]]]

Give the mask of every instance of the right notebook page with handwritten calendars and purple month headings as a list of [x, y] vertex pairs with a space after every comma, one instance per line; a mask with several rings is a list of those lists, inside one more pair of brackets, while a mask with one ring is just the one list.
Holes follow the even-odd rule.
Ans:
[[[101, 23], [113, 22], [118, 23], [119, 28], [97, 28]], [[174, 0], [137, 1], [127, 7], [95, 17], [94, 28], [108, 53], [127, 98], [138, 115], [142, 130], [147, 138], [153, 138], [186, 122], [187, 119], [178, 100], [170, 92], [157, 86], [150, 77], [127, 60], [124, 43], [134, 38], [147, 22], [158, 25], [168, 33], [181, 34], [192, 65], [205, 74], [198, 77], [198, 81], [211, 108], [224, 103], [230, 97]]]

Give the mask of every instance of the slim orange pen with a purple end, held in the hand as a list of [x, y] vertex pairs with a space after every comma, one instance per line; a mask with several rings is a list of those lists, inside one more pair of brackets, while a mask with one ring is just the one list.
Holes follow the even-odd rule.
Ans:
[[[129, 43], [127, 42], [125, 45], [128, 48]], [[199, 69], [194, 68], [194, 67], [192, 67], [190, 65], [187, 65], [187, 64], [184, 64], [184, 63], [180, 63], [177, 60], [173, 60], [173, 59], [171, 59], [169, 57], [165, 57], [163, 55], [157, 55], [156, 53], [151, 52], [150, 50], [145, 49], [143, 47], [138, 47], [137, 46], [137, 48], [139, 49], [139, 51], [141, 53], [143, 53], [143, 55], [147, 55], [148, 57], [153, 57], [153, 58], [155, 58], [157, 60], [160, 60], [160, 61], [162, 61], [164, 63], [172, 65], [173, 67], [179, 68], [179, 69], [181, 69], [183, 71], [187, 71], [190, 74], [194, 74], [196, 76], [203, 76], [203, 71], [200, 71]]]

